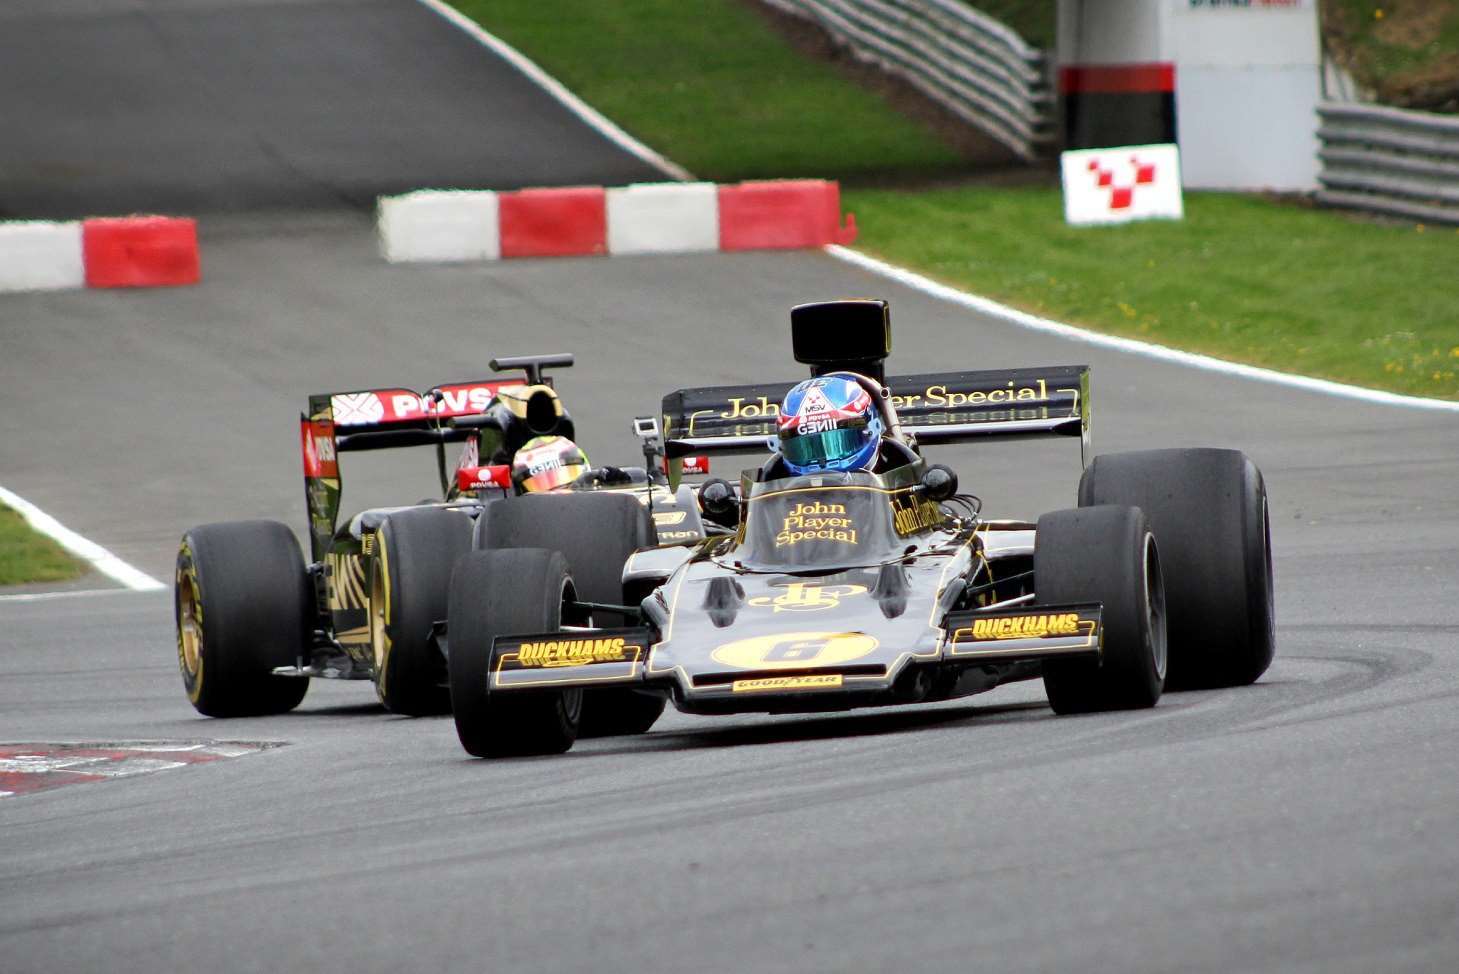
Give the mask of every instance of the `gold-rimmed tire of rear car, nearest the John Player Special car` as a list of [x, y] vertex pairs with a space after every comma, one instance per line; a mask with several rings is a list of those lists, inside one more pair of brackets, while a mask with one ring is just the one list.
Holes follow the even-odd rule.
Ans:
[[369, 642], [375, 694], [409, 717], [451, 710], [446, 666], [430, 627], [446, 617], [455, 560], [471, 548], [471, 519], [455, 510], [400, 510], [375, 531]]

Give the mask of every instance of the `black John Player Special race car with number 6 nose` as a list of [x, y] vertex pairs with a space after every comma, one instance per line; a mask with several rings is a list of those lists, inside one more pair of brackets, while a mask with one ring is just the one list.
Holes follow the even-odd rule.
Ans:
[[[813, 375], [859, 373], [889, 459], [788, 475], [772, 456], [738, 486], [700, 486], [703, 539], [632, 553], [605, 522], [562, 544], [534, 535], [557, 499], [496, 504], [489, 516], [522, 525], [522, 544], [463, 557], [446, 614], [470, 754], [565, 751], [585, 694], [610, 687], [725, 714], [915, 704], [1042, 678], [1062, 714], [1151, 707], [1167, 679], [1236, 685], [1266, 669], [1266, 493], [1243, 453], [1090, 456], [1085, 366], [886, 378], [884, 302], [801, 305], [791, 328]], [[767, 453], [789, 385], [673, 392], [664, 452]], [[1078, 507], [988, 518], [924, 456], [1033, 436], [1081, 445]], [[582, 598], [584, 567], [622, 570], [620, 604]]]

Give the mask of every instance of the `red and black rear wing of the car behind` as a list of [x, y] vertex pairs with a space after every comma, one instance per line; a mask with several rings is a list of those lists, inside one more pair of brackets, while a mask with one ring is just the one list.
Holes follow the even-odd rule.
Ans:
[[524, 382], [525, 376], [496, 376], [451, 382], [425, 394], [390, 388], [311, 395], [309, 411], [299, 417], [299, 446], [314, 560], [322, 560], [334, 541], [340, 513], [340, 453], [438, 446], [444, 478], [445, 445], [464, 442], [476, 432], [454, 420], [480, 414], [499, 389]]

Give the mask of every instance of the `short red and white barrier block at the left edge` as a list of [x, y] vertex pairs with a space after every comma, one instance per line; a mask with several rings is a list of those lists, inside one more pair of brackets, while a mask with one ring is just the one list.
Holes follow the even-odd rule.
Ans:
[[160, 216], [0, 223], [0, 292], [172, 287], [201, 276], [197, 223]]

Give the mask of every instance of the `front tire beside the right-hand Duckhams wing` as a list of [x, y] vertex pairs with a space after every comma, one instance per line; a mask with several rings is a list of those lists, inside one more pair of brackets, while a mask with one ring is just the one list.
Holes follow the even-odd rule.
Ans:
[[1166, 682], [1166, 598], [1160, 550], [1138, 507], [1080, 507], [1039, 518], [1033, 586], [1040, 605], [1103, 604], [1103, 653], [1053, 661], [1043, 687], [1055, 713], [1138, 710]]

